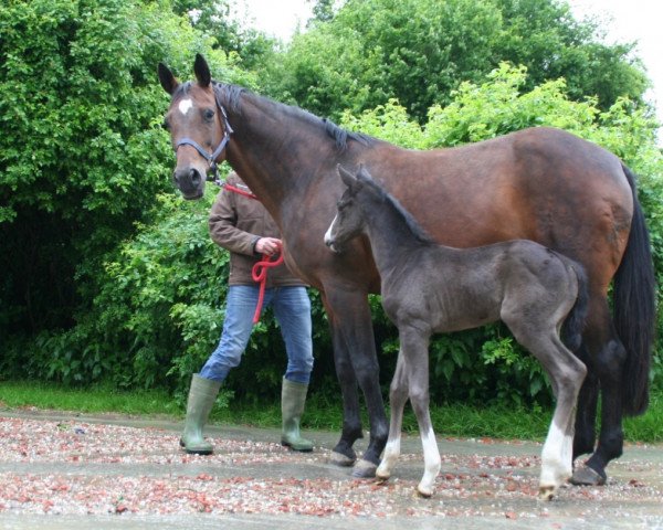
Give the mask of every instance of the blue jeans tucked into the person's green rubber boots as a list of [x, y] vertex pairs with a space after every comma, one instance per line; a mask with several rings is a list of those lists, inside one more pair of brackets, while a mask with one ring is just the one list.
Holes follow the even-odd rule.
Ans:
[[[231, 285], [225, 300], [225, 320], [219, 346], [211, 353], [200, 377], [223, 382], [230, 370], [240, 364], [253, 330], [253, 315], [259, 287]], [[311, 300], [305, 287], [265, 289], [264, 308], [272, 306], [287, 352], [285, 379], [308, 384], [313, 370], [311, 339]]]

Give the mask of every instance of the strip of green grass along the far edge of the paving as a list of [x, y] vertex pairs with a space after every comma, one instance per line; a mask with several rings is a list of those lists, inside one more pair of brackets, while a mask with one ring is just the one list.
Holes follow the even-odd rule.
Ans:
[[[230, 401], [230, 404], [228, 404]], [[185, 407], [176, 398], [164, 391], [117, 391], [98, 385], [90, 389], [69, 389], [48, 383], [0, 382], [0, 414], [2, 410], [34, 406], [94, 413], [129, 415], [166, 415], [173, 420], [183, 417]], [[389, 416], [389, 411], [387, 411]], [[368, 430], [368, 414], [361, 411], [362, 425]], [[530, 439], [543, 442], [551, 418], [550, 411], [526, 410], [506, 405], [485, 407], [453, 404], [431, 407], [435, 433], [450, 437], [490, 437], [502, 439]], [[281, 426], [281, 404], [234, 402], [221, 394], [212, 413], [213, 422]], [[338, 400], [313, 394], [306, 404], [303, 427], [339, 432], [343, 409]], [[406, 407], [403, 430], [417, 433], [417, 420], [410, 406]], [[624, 420], [628, 442], [663, 442], [663, 392], [654, 391], [648, 412]]]

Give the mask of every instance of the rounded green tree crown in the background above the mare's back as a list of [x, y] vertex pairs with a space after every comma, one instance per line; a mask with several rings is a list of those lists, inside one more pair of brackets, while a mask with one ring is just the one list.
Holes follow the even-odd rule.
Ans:
[[572, 99], [596, 96], [602, 109], [646, 88], [632, 44], [600, 43], [593, 23], [554, 0], [348, 0], [326, 20], [294, 39], [271, 88], [322, 116], [397, 98], [423, 123], [503, 61], [528, 67], [525, 89], [565, 77]]

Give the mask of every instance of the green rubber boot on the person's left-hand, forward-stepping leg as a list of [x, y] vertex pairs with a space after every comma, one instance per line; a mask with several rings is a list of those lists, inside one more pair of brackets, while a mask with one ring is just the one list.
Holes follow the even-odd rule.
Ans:
[[214, 446], [202, 437], [202, 427], [208, 421], [210, 411], [217, 400], [221, 383], [193, 374], [189, 399], [187, 401], [187, 418], [180, 445], [190, 455], [211, 455]]

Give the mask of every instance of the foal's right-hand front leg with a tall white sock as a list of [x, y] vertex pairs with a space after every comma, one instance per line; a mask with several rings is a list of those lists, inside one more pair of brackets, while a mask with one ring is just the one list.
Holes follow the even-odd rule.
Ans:
[[408, 374], [410, 403], [417, 415], [423, 446], [424, 470], [417, 490], [422, 497], [430, 497], [433, 495], [442, 459], [429, 411], [429, 333], [414, 328], [400, 329], [400, 341]]

